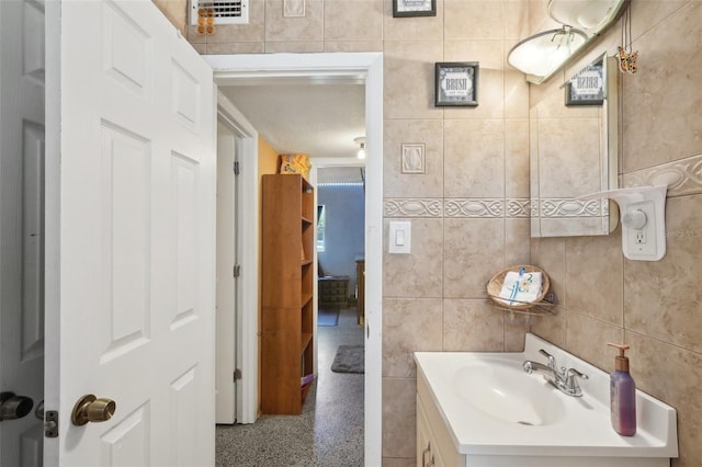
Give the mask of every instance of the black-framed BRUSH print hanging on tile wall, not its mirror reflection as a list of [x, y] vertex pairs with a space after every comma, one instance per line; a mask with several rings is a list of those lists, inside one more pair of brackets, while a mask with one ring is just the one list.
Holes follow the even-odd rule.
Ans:
[[435, 64], [434, 105], [478, 105], [477, 61], [446, 61]]

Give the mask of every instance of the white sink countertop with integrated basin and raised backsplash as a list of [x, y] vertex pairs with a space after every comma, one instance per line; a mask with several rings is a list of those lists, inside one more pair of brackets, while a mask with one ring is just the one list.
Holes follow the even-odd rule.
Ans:
[[[526, 360], [546, 363], [540, 349], [552, 354], [559, 367], [589, 376], [580, 380], [582, 397], [561, 392], [541, 373], [524, 373]], [[540, 467], [552, 465], [546, 460], [558, 465], [561, 456], [658, 458], [664, 464], [665, 458], [678, 456], [673, 408], [637, 390], [636, 435], [620, 436], [610, 423], [609, 374], [533, 334], [526, 334], [520, 353], [417, 352], [415, 361], [418, 388], [429, 395], [461, 454], [535, 456], [536, 464], [528, 465]], [[654, 465], [630, 462], [626, 465]]]

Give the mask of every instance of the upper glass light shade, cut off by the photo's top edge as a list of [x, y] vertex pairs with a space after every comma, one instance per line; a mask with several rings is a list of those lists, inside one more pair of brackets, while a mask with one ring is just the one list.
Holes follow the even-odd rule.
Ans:
[[568, 26], [595, 34], [609, 24], [624, 0], [550, 0], [548, 15]]

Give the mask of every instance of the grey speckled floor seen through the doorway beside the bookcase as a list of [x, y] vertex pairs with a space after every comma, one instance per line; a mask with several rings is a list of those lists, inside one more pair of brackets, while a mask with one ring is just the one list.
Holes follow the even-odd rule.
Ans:
[[355, 308], [339, 324], [318, 328], [318, 376], [301, 415], [263, 415], [248, 425], [218, 425], [216, 464], [246, 467], [363, 465], [363, 375], [333, 373], [339, 345], [363, 344]]

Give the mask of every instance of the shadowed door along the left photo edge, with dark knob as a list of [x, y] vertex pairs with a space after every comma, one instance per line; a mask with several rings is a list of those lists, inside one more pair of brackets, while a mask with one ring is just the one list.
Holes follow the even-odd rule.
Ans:
[[44, 437], [42, 3], [0, 1], [0, 401], [18, 409], [0, 413], [0, 466], [29, 467]]

